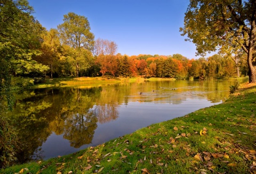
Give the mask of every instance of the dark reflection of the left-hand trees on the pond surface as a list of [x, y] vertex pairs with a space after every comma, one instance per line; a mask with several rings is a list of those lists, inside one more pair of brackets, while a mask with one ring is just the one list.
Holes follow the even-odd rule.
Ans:
[[[98, 121], [106, 123], [118, 118], [116, 102], [103, 99], [102, 88], [39, 89], [17, 94], [14, 111], [9, 113], [17, 127], [22, 149], [18, 160], [42, 158], [40, 147], [54, 132], [63, 134], [70, 146], [90, 144]], [[108, 94], [104, 94], [108, 97]], [[103, 103], [99, 101], [108, 101]], [[111, 101], [111, 102], [109, 102]], [[34, 152], [37, 154], [36, 156]]]

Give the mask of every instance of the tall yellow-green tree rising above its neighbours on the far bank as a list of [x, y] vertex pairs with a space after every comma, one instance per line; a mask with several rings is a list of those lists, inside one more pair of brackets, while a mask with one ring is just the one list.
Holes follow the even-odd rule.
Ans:
[[94, 35], [90, 32], [90, 24], [85, 16], [70, 12], [64, 15], [63, 21], [58, 25], [60, 40], [62, 44], [73, 48], [70, 53], [78, 76], [79, 69], [86, 63], [84, 55], [88, 55], [88, 51], [93, 49]]

